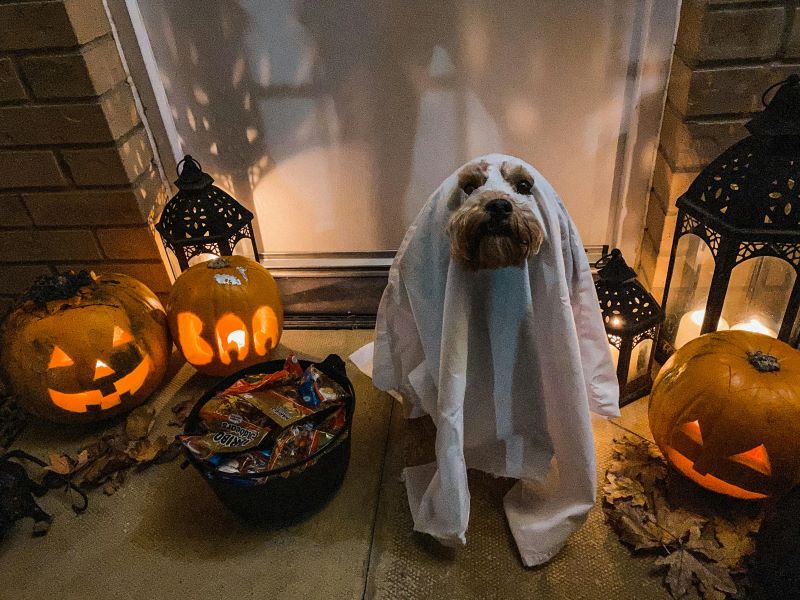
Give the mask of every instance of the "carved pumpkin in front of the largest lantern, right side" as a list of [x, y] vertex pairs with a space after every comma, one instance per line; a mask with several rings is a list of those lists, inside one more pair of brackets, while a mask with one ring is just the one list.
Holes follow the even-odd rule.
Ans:
[[650, 395], [664, 456], [699, 485], [744, 500], [800, 483], [800, 351], [719, 331], [682, 346]]

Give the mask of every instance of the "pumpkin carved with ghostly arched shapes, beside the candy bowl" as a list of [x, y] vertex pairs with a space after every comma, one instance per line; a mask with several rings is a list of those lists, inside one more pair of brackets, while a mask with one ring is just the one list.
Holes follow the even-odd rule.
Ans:
[[244, 256], [184, 271], [167, 299], [167, 314], [183, 357], [209, 375], [230, 375], [263, 362], [283, 333], [278, 285]]

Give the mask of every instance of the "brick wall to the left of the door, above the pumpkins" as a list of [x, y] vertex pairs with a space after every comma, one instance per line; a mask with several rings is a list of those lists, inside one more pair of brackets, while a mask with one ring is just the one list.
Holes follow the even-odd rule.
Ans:
[[166, 189], [102, 0], [0, 1], [0, 23], [0, 315], [56, 269], [166, 291]]

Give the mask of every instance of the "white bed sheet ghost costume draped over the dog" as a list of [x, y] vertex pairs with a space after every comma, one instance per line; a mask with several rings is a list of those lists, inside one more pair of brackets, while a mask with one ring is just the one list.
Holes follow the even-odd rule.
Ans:
[[[522, 267], [470, 270], [451, 258], [445, 180], [409, 228], [378, 311], [372, 376], [430, 415], [436, 461], [404, 470], [414, 529], [466, 543], [467, 468], [519, 479], [504, 498], [525, 565], [549, 560], [594, 505], [589, 411], [619, 415], [618, 384], [575, 225], [530, 165], [491, 154], [485, 186], [528, 202], [544, 240]], [[472, 162], [476, 162], [472, 161]], [[515, 194], [503, 163], [534, 178]]]

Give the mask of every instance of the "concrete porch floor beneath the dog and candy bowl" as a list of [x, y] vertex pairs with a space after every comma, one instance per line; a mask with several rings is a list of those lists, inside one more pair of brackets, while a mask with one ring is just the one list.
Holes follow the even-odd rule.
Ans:
[[[287, 331], [276, 356], [343, 358], [371, 331]], [[467, 547], [448, 552], [413, 534], [405, 507], [402, 418], [389, 396], [348, 362], [357, 409], [347, 478], [320, 512], [283, 529], [239, 522], [181, 459], [131, 474], [112, 496], [89, 495], [75, 516], [70, 499], [40, 500], [54, 516], [49, 533], [31, 537], [31, 521], [0, 541], [0, 597], [59, 598], [668, 598], [652, 563], [634, 559], [603, 523], [598, 507], [548, 565], [525, 569], [497, 508], [497, 486], [471, 476], [473, 512]], [[172, 379], [151, 400], [164, 408], [197, 397], [211, 379], [176, 361]], [[596, 419], [598, 463], [610, 440], [634, 431], [649, 437], [646, 401], [615, 421]], [[94, 431], [32, 423], [15, 447], [40, 457], [74, 451]], [[605, 457], [605, 458], [604, 458]], [[601, 470], [599, 467], [598, 470]], [[493, 489], [494, 488], [494, 489]]]

